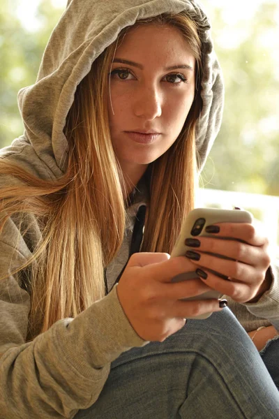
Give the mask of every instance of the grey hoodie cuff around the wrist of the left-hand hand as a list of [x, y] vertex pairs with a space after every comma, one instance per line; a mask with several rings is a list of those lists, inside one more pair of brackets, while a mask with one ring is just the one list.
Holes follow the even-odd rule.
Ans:
[[74, 319], [67, 318], [54, 325], [56, 346], [63, 359], [84, 377], [91, 378], [94, 371], [96, 378], [96, 370], [101, 371], [121, 353], [149, 343], [130, 325], [116, 288], [117, 284]]

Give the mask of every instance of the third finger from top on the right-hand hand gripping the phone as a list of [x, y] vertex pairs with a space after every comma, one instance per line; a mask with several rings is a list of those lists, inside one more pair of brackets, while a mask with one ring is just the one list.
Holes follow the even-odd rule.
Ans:
[[[218, 258], [218, 256], [212, 256], [196, 251], [190, 252], [190, 254], [186, 252], [186, 255], [189, 255], [188, 257], [191, 258], [194, 257], [194, 255], [197, 255], [195, 257], [199, 256], [199, 260], [193, 260], [195, 265], [207, 268], [210, 271], [218, 272], [224, 277], [231, 277], [247, 284], [252, 284], [256, 280], [262, 280], [262, 270], [256, 270], [255, 267], [246, 265], [246, 263], [242, 263], [237, 260], [222, 259]], [[261, 278], [259, 278], [259, 274], [261, 274]]]

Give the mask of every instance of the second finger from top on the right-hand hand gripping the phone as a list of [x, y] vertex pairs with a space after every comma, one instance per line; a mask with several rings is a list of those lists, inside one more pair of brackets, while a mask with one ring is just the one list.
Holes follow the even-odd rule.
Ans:
[[236, 240], [222, 240], [221, 238], [214, 239], [211, 237], [200, 237], [199, 242], [198, 251], [201, 252], [216, 253], [252, 266], [266, 267], [271, 263], [268, 253], [262, 247], [251, 246]]

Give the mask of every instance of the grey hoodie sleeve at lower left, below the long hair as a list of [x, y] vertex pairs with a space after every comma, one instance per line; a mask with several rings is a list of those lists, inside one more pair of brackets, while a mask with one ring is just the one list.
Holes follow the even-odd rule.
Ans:
[[[5, 251], [1, 242], [0, 254]], [[1, 280], [1, 419], [73, 418], [96, 402], [110, 362], [147, 343], [126, 318], [116, 286], [76, 318], [58, 321], [26, 342], [29, 309], [29, 293], [17, 279]]]

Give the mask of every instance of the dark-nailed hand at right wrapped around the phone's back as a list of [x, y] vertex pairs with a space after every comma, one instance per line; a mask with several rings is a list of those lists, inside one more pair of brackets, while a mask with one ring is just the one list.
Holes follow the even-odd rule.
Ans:
[[[217, 223], [214, 226], [220, 229], [213, 233], [214, 237], [186, 241], [188, 246], [193, 247], [193, 251], [188, 251], [186, 256], [197, 265], [196, 272], [206, 285], [236, 302], [257, 301], [271, 286], [271, 279], [266, 275], [271, 263], [268, 239], [259, 233], [259, 228], [248, 223]], [[222, 240], [224, 237], [225, 240]], [[223, 275], [223, 278], [210, 270]]]

